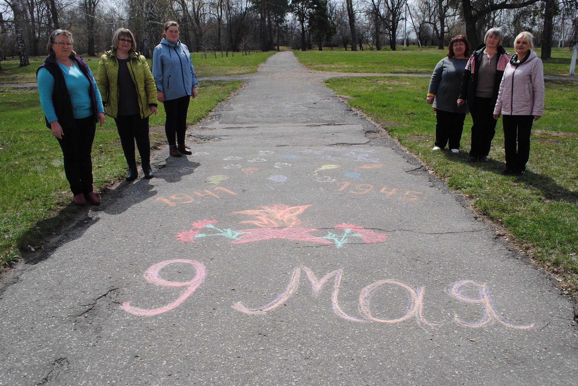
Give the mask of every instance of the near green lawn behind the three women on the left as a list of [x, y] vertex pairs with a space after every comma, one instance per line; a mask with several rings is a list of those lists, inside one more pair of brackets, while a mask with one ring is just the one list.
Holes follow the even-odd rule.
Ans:
[[[241, 81], [203, 82], [191, 100], [187, 122], [205, 117], [218, 102], [241, 87]], [[62, 151], [46, 128], [35, 89], [0, 88], [0, 271], [16, 260], [20, 248], [41, 243], [78, 208], [64, 175]], [[150, 126], [164, 125], [165, 112], [151, 116]], [[164, 143], [164, 130], [152, 130], [151, 142]], [[138, 155], [137, 155], [138, 156]], [[127, 164], [114, 120], [107, 117], [92, 145], [95, 188], [123, 178]]]

